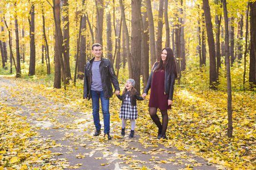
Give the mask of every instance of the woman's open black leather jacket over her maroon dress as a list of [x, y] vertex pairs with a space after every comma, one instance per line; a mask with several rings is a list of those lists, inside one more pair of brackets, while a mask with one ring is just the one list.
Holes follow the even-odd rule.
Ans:
[[[152, 71], [150, 73], [150, 76], [148, 78], [148, 83], [147, 86], [144, 89], [143, 93], [148, 94], [148, 91], [151, 87], [151, 83], [153, 80], [153, 73], [154, 70], [157, 68], [158, 62], [156, 62], [152, 68]], [[174, 93], [174, 84], [175, 84], [175, 73], [170, 72], [170, 70], [165, 70], [164, 72], [164, 79], [165, 79], [165, 84], [164, 84], [164, 92], [165, 94], [169, 94], [168, 100], [173, 100], [173, 93]]]

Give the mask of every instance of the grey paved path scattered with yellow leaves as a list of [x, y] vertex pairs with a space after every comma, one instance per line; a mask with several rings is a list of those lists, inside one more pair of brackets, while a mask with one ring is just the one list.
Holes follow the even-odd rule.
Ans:
[[[164, 147], [163, 141], [146, 142], [146, 135], [136, 133], [133, 139], [119, 135], [119, 127], [112, 123], [108, 141], [100, 136], [93, 137], [94, 124], [91, 113], [77, 111], [74, 107], [36, 94], [33, 88], [17, 86], [15, 79], [0, 77], [0, 102], [17, 108], [17, 113], [38, 127], [41, 138], [59, 144], [50, 148], [55, 159], [67, 159], [66, 169], [120, 170], [149, 169], [216, 170], [217, 168], [191, 153], [176, 148]], [[102, 120], [102, 118], [101, 118]], [[103, 124], [103, 122], [101, 122]]]

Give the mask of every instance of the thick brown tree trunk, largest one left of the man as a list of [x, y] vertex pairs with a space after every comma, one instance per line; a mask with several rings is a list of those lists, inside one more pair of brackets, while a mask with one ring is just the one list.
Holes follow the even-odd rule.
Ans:
[[[63, 36], [61, 32], [61, 27], [60, 27], [60, 0], [53, 0], [53, 10], [54, 10], [54, 23], [55, 23], [55, 76], [54, 77], [54, 88], [61, 88], [60, 86], [60, 78], [62, 77], [63, 79], [63, 84], [64, 84], [64, 89], [66, 89], [67, 85], [67, 61], [65, 61], [65, 57], [62, 57], [63, 54]], [[57, 62], [56, 60], [59, 60]], [[60, 68], [59, 69], [59, 65]], [[57, 75], [58, 74], [58, 75]], [[61, 75], [61, 77], [59, 76]]]

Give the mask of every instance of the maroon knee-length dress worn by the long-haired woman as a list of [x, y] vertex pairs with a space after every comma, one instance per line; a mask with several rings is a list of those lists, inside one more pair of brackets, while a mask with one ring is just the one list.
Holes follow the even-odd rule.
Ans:
[[160, 110], [171, 109], [171, 105], [168, 106], [168, 94], [164, 94], [164, 70], [154, 71], [151, 92], [149, 98], [149, 107], [157, 107]]

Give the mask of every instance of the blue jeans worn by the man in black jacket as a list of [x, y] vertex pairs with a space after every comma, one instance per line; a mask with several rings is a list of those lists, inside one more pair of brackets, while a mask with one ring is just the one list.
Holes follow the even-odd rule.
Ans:
[[110, 114], [109, 114], [109, 99], [104, 97], [104, 92], [91, 90], [92, 104], [93, 104], [93, 121], [96, 130], [100, 130], [101, 125], [99, 122], [99, 98], [101, 101], [101, 110], [104, 120], [104, 133], [109, 133], [110, 130]]

